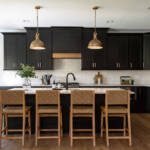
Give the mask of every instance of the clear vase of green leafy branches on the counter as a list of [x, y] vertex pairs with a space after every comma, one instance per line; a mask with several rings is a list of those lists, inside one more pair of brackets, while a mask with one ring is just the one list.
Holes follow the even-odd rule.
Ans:
[[35, 69], [33, 66], [21, 64], [17, 74], [24, 79], [24, 87], [31, 87], [31, 80], [29, 78], [35, 77]]

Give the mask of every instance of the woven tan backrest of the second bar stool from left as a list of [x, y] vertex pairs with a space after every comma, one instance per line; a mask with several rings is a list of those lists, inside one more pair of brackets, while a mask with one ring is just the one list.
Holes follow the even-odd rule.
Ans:
[[59, 105], [60, 92], [58, 90], [37, 90], [36, 91], [37, 105]]

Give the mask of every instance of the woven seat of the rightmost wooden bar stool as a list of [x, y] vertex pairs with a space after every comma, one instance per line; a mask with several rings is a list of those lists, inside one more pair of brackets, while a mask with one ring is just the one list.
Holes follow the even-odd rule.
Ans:
[[[101, 106], [101, 111], [103, 113], [106, 112], [106, 108], [104, 106]], [[109, 114], [126, 114], [128, 112], [127, 107], [125, 106], [109, 106], [108, 108], [108, 113]]]

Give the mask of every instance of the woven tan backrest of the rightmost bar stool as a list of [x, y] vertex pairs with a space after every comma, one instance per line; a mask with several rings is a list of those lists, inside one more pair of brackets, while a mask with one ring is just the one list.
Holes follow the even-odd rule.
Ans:
[[130, 92], [128, 90], [106, 91], [105, 105], [130, 105]]

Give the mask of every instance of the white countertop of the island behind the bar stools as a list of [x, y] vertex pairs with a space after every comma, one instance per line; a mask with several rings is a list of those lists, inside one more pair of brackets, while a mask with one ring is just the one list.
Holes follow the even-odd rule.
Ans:
[[[35, 94], [36, 90], [52, 90], [52, 88], [13, 88], [10, 90], [24, 90], [26, 94]], [[105, 94], [107, 90], [123, 90], [121, 88], [70, 88], [68, 90], [62, 89], [60, 90], [61, 94], [70, 94], [71, 90], [93, 90], [95, 91], [95, 94]], [[131, 94], [134, 94], [134, 92], [131, 91]]]

